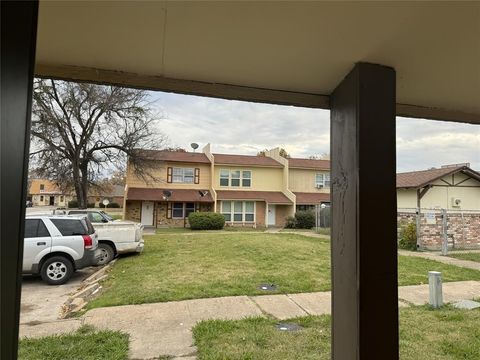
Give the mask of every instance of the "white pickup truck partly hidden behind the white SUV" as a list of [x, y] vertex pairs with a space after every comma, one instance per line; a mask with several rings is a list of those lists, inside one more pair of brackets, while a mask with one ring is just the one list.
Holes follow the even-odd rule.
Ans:
[[105, 265], [119, 254], [143, 251], [143, 225], [132, 221], [114, 220], [101, 210], [56, 210], [68, 215], [87, 215], [98, 234], [100, 256], [98, 265]]

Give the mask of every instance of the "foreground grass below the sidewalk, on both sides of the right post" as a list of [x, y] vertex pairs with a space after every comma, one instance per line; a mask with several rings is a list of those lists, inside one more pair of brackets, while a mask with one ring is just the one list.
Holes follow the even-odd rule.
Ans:
[[[287, 320], [303, 327], [296, 332], [275, 328], [278, 321], [250, 318], [203, 321], [193, 333], [199, 360], [330, 359], [330, 316]], [[402, 360], [480, 359], [480, 310], [426, 306], [400, 310]]]

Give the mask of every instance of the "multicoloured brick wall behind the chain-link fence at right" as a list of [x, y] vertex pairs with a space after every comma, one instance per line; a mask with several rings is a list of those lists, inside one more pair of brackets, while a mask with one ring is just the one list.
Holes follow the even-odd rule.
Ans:
[[[422, 249], [440, 250], [443, 241], [443, 218], [439, 210], [425, 210], [420, 219], [420, 245]], [[398, 230], [402, 223], [416, 222], [413, 212], [398, 212]], [[447, 236], [449, 247], [455, 249], [480, 248], [480, 212], [447, 212]]]

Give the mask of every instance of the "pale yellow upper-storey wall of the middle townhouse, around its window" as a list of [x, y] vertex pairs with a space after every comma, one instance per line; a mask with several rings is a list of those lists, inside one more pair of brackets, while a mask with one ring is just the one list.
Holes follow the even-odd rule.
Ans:
[[[252, 186], [232, 187], [220, 186], [220, 170], [250, 170], [252, 172]], [[222, 166], [215, 165], [213, 188], [216, 190], [254, 190], [254, 191], [282, 191], [283, 169], [282, 168], [259, 168], [252, 166]]]

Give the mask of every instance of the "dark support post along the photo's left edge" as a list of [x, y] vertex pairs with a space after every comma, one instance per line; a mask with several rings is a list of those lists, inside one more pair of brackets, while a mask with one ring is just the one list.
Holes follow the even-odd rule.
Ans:
[[17, 358], [37, 1], [2, 1], [1, 359]]

